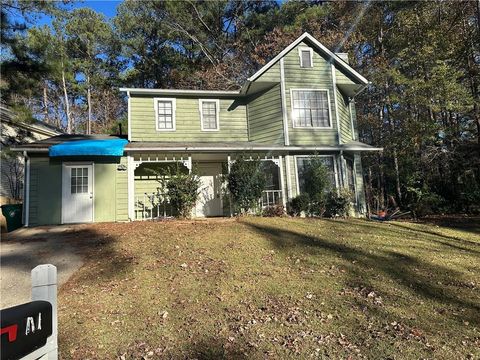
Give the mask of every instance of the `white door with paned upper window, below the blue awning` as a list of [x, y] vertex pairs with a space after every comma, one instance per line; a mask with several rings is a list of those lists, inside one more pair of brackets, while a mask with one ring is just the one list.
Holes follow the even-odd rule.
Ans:
[[93, 166], [63, 165], [62, 223], [93, 221]]

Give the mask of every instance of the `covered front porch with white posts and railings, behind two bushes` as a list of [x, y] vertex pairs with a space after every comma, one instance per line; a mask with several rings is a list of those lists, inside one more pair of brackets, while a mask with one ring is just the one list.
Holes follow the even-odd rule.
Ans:
[[[232, 216], [234, 209], [225, 177], [240, 154], [142, 153], [128, 157], [129, 218], [153, 220], [175, 215], [166, 191], [172, 168], [200, 177], [199, 198], [193, 217]], [[284, 159], [281, 155], [252, 154], [247, 159], [261, 161], [267, 184], [258, 200], [258, 211], [274, 205], [286, 206]]]

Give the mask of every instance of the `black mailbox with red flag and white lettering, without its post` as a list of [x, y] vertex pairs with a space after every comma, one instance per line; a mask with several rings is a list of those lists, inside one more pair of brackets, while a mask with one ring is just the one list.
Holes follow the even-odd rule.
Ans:
[[52, 304], [32, 301], [0, 310], [1, 360], [20, 359], [52, 335]]

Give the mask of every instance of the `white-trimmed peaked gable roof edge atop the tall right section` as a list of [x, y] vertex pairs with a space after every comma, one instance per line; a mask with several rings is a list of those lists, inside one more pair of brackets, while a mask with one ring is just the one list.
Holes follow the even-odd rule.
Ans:
[[303, 33], [297, 40], [295, 40], [293, 43], [288, 45], [281, 53], [279, 53], [277, 56], [275, 56], [272, 60], [270, 60], [266, 65], [264, 65], [260, 70], [258, 70], [255, 74], [250, 76], [247, 81], [253, 82], [257, 80], [260, 76], [262, 76], [263, 73], [265, 73], [268, 69], [270, 69], [273, 65], [277, 63], [282, 57], [284, 57], [286, 54], [288, 54], [293, 48], [295, 48], [298, 44], [300, 44], [302, 41], [307, 40], [311, 43], [311, 45], [317, 50], [325, 55], [327, 55], [334, 64], [337, 66], [337, 68], [340, 71], [343, 71], [347, 74], [349, 74], [351, 77], [354, 79], [358, 80], [359, 83], [367, 85], [368, 80], [365, 79], [360, 73], [358, 73], [354, 68], [352, 68], [349, 64], [347, 64], [343, 59], [341, 59], [338, 55], [335, 53], [331, 52], [328, 48], [326, 48], [322, 43], [320, 43], [317, 39], [315, 39], [312, 35], [309, 33], [305, 32]]

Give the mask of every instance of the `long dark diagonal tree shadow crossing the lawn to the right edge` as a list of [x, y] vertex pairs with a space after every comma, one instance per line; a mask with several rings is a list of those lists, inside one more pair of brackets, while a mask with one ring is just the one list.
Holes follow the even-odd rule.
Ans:
[[[433, 265], [410, 255], [394, 251], [376, 250], [375, 253], [354, 248], [320, 237], [306, 236], [295, 231], [272, 226], [244, 222], [245, 225], [268, 239], [280, 251], [302, 246], [301, 251], [313, 255], [326, 252], [352, 263], [349, 275], [352, 279], [364, 278], [370, 271], [386, 276], [394, 282], [428, 300], [462, 309], [458, 317], [480, 324], [480, 304], [461, 298], [444, 284], [457, 279], [459, 272]], [[354, 262], [354, 263], [353, 263]], [[367, 279], [368, 281], [368, 279]]]

